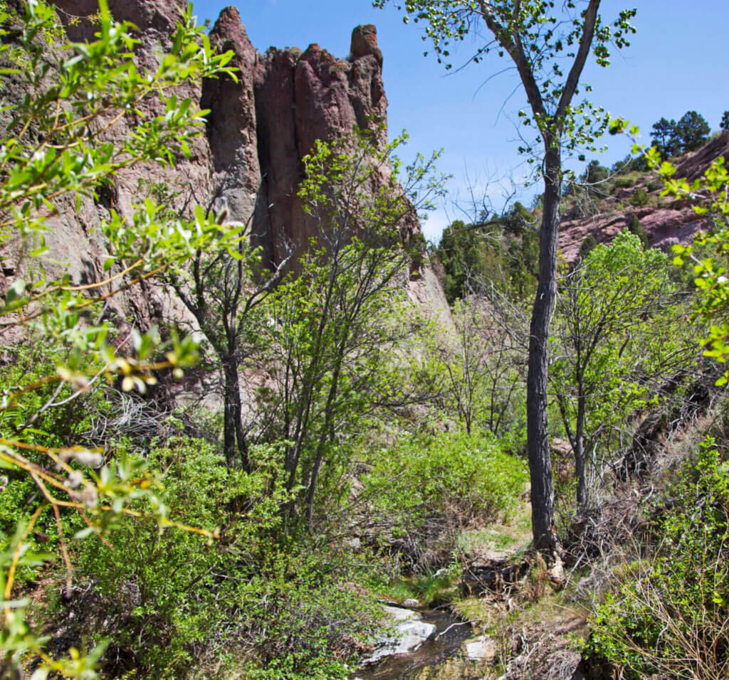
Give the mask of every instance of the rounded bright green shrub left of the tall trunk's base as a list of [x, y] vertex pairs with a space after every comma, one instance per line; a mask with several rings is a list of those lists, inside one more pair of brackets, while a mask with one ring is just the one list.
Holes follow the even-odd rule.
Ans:
[[450, 556], [460, 529], [508, 513], [527, 480], [523, 462], [482, 432], [403, 438], [370, 463], [362, 479], [370, 531], [390, 533], [417, 567]]

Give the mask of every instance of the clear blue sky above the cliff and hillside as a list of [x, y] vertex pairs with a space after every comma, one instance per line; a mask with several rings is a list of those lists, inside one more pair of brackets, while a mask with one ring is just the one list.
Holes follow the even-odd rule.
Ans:
[[[214, 21], [226, 4], [195, 1], [200, 21]], [[446, 72], [421, 40], [422, 28], [402, 23], [393, 5], [373, 9], [370, 0], [238, 0], [249, 38], [259, 52], [270, 46], [300, 47], [318, 42], [333, 55], [349, 52], [351, 30], [374, 23], [384, 55], [383, 79], [389, 100], [391, 135], [410, 133], [401, 156], [417, 151], [429, 155], [445, 149], [439, 169], [453, 175], [445, 204], [424, 223], [429, 240], [438, 240], [449, 221], [467, 220], [469, 186], [477, 197], [487, 195], [497, 210], [510, 178], [526, 173], [517, 151], [515, 121], [525, 107], [515, 71], [494, 76], [506, 60], [487, 58], [457, 73]], [[717, 130], [722, 111], [729, 109], [728, 0], [604, 0], [601, 14], [612, 20], [620, 9], [637, 7], [638, 33], [631, 47], [615, 54], [607, 68], [590, 66], [582, 77], [594, 88], [595, 103], [614, 116], [638, 124], [643, 141], [651, 125], [665, 116], [678, 119], [688, 110], [702, 114]], [[475, 43], [467, 39], [453, 56], [465, 61]], [[453, 69], [455, 71], [455, 68]], [[488, 82], [487, 82], [488, 80]], [[605, 138], [609, 150], [601, 157], [612, 165], [630, 150], [625, 138]], [[579, 164], [574, 164], [579, 170]], [[524, 194], [530, 196], [529, 192]]]

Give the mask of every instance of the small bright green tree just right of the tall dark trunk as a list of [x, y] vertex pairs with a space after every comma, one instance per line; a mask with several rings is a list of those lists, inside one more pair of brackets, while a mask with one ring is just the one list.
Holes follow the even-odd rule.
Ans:
[[561, 282], [550, 381], [574, 454], [578, 511], [600, 440], [690, 358], [682, 311], [666, 256], [629, 232], [590, 250]]

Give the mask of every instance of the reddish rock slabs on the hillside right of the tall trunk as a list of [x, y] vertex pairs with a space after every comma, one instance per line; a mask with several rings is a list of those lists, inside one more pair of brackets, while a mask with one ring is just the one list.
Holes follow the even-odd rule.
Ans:
[[[678, 178], [693, 181], [704, 173], [707, 167], [719, 157], [729, 159], [729, 131], [722, 133], [698, 151], [678, 159], [676, 162]], [[651, 183], [649, 180], [653, 179]], [[643, 189], [649, 197], [650, 205], [634, 207], [631, 198], [635, 191]], [[652, 248], [669, 250], [671, 245], [687, 244], [696, 232], [708, 229], [711, 218], [699, 216], [687, 200], [660, 197], [663, 182], [647, 175], [631, 189], [623, 189], [615, 197], [609, 197], [600, 204], [600, 210], [590, 217], [578, 217], [575, 213], [565, 213], [559, 234], [559, 249], [567, 261], [574, 261], [580, 245], [586, 237], [592, 236], [596, 242], [610, 242], [623, 231], [636, 216], [648, 237]]]

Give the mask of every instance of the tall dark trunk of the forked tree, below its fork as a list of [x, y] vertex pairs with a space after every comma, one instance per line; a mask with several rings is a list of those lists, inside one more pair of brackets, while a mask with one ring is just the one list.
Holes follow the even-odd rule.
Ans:
[[526, 379], [526, 431], [531, 479], [534, 547], [542, 552], [558, 545], [554, 530], [554, 480], [547, 430], [547, 361], [550, 320], [557, 290], [557, 237], [561, 199], [561, 153], [545, 143], [545, 195], [539, 232], [539, 284], [531, 312], [529, 373]]

